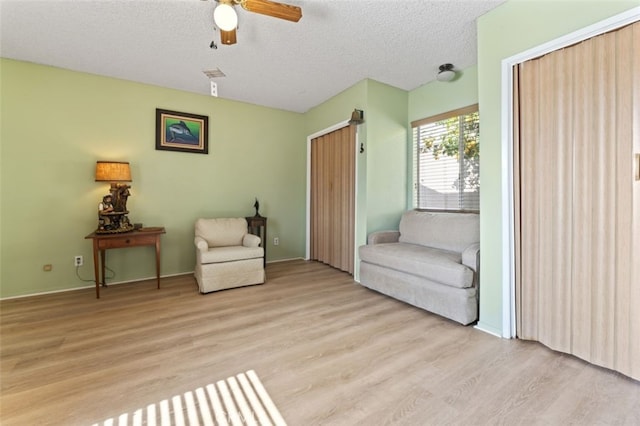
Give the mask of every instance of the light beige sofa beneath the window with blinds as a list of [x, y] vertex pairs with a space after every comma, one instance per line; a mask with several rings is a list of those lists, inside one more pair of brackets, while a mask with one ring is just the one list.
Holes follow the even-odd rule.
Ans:
[[363, 286], [464, 325], [478, 319], [478, 214], [406, 212], [359, 255]]

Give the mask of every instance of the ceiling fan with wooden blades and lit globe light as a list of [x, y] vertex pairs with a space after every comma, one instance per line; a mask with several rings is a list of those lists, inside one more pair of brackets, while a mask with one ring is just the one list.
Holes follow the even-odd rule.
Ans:
[[244, 10], [274, 18], [298, 22], [302, 18], [302, 9], [285, 3], [271, 0], [216, 0], [218, 5], [213, 11], [213, 20], [220, 29], [220, 42], [231, 45], [237, 42], [236, 29], [238, 15], [234, 6], [240, 5]]

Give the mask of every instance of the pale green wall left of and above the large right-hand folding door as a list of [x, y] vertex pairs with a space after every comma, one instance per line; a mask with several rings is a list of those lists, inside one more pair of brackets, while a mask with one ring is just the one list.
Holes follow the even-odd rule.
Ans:
[[502, 335], [503, 270], [501, 62], [580, 28], [640, 5], [640, 1], [510, 0], [478, 20], [478, 89], [482, 142], [480, 145], [480, 322], [484, 330]]

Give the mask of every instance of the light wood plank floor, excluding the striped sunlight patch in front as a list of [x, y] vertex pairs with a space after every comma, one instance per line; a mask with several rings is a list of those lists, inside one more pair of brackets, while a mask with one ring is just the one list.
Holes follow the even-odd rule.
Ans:
[[2, 425], [104, 421], [254, 369], [289, 425], [640, 425], [640, 383], [367, 290], [315, 262], [8, 300]]

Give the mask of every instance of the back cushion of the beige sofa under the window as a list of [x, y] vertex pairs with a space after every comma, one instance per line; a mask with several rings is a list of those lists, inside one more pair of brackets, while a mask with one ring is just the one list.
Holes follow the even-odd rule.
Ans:
[[477, 213], [405, 212], [400, 220], [400, 242], [461, 253], [480, 242]]

